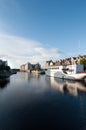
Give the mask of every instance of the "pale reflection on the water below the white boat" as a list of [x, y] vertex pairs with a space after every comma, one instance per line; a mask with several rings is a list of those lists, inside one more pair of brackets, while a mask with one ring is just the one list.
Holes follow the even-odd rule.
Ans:
[[62, 80], [54, 77], [46, 77], [46, 82], [61, 93], [69, 92], [74, 96], [78, 95], [78, 91], [86, 93], [86, 83], [84, 82]]

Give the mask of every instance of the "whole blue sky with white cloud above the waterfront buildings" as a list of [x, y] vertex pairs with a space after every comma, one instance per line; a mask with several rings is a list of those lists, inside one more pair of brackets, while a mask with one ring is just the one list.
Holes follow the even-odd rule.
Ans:
[[0, 59], [11, 68], [86, 55], [86, 0], [0, 0]]

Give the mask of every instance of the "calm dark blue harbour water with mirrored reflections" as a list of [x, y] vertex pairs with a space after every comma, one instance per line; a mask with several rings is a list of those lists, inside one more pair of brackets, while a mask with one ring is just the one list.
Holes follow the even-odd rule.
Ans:
[[86, 84], [18, 72], [0, 81], [0, 130], [86, 130]]

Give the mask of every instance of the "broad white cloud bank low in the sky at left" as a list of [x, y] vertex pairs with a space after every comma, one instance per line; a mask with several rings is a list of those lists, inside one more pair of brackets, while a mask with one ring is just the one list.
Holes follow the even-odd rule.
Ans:
[[0, 58], [6, 59], [13, 67], [26, 62], [41, 63], [56, 60], [60, 52], [56, 48], [45, 48], [42, 43], [22, 37], [0, 34]]

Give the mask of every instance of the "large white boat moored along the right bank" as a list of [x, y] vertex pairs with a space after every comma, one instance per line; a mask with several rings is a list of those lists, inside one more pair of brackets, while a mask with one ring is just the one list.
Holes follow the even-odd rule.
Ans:
[[85, 80], [86, 73], [83, 73], [83, 65], [67, 65], [49, 68], [46, 71], [47, 76], [70, 80]]

